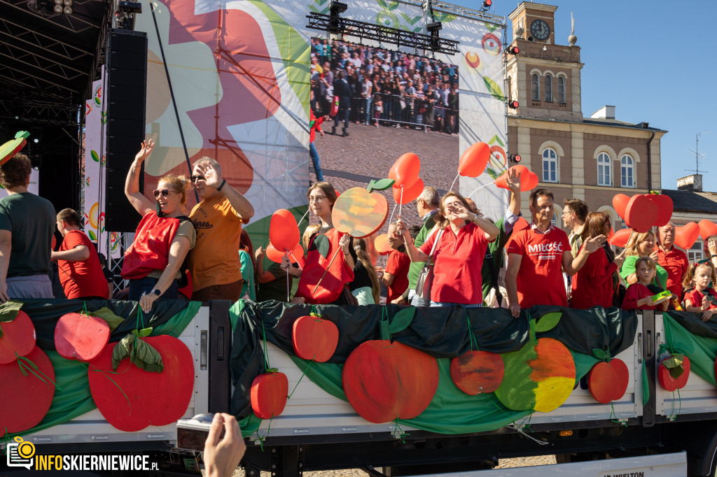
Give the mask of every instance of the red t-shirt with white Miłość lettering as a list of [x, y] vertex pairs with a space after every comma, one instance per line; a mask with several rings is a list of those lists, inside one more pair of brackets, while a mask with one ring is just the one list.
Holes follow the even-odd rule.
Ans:
[[563, 254], [566, 251], [570, 252], [568, 236], [554, 226], [547, 233], [539, 233], [533, 227], [513, 233], [508, 255], [523, 256], [518, 271], [521, 308], [536, 304], [568, 306], [563, 281]]

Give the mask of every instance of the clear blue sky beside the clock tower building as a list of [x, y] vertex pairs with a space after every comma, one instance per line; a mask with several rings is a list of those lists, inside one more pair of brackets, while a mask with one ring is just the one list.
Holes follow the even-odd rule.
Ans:
[[[476, 9], [480, 0], [447, 0]], [[520, 4], [493, 0], [489, 13], [508, 19]], [[558, 6], [555, 40], [569, 44], [570, 11], [576, 46], [581, 48], [582, 112], [589, 117], [604, 105], [615, 119], [649, 122], [667, 130], [661, 143], [662, 186], [676, 189], [677, 178], [693, 174], [695, 134], [703, 190], [717, 192], [717, 60], [714, 54], [716, 0], [550, 0]], [[689, 170], [685, 170], [689, 169]]]

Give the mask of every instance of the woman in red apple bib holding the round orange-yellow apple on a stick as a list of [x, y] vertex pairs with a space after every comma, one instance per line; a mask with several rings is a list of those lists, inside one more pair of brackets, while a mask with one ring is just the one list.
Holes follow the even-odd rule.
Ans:
[[[356, 304], [356, 299], [348, 290], [347, 284], [353, 281], [353, 267], [356, 265], [356, 251], [350, 236], [339, 236], [333, 228], [331, 211], [338, 195], [328, 182], [317, 182], [309, 188], [307, 198], [309, 210], [321, 221], [318, 233], [309, 239], [306, 262], [303, 270], [297, 269], [284, 257], [282, 270], [299, 277], [296, 297], [302, 297], [312, 304]], [[318, 239], [322, 236], [322, 239]], [[328, 239], [328, 253], [320, 253], [323, 247], [318, 240]], [[337, 249], [341, 249], [336, 259], [331, 261]], [[331, 266], [329, 264], [331, 263]]]

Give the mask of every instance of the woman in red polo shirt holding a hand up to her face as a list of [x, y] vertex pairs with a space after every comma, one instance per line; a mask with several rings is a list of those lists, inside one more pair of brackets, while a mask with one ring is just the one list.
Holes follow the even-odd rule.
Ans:
[[404, 236], [411, 261], [428, 261], [433, 244], [432, 307], [480, 307], [483, 302], [480, 269], [483, 266], [488, 242], [498, 236], [498, 227], [478, 213], [470, 211], [467, 201], [459, 193], [443, 196], [437, 220], [440, 231], [433, 233], [417, 249], [409, 230], [399, 217], [397, 226]]

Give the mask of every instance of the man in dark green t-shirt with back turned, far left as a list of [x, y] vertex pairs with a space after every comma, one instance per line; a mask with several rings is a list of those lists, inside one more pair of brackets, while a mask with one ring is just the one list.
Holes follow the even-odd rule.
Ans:
[[27, 191], [32, 164], [16, 154], [0, 165], [0, 303], [14, 298], [52, 298], [50, 249], [54, 207]]

